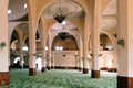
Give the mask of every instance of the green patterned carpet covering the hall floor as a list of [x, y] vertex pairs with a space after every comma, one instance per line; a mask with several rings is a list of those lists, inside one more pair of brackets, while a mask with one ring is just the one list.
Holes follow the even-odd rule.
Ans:
[[93, 79], [89, 74], [78, 70], [53, 69], [38, 72], [29, 76], [28, 69], [11, 69], [10, 85], [0, 88], [116, 88], [116, 74], [101, 73], [101, 78]]

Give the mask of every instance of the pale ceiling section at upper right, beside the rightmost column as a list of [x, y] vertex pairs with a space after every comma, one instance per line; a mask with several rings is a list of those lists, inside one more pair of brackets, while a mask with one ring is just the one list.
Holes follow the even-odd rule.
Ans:
[[116, 19], [116, 0], [111, 0], [103, 11], [103, 18], [101, 23], [102, 30], [114, 30], [117, 26]]

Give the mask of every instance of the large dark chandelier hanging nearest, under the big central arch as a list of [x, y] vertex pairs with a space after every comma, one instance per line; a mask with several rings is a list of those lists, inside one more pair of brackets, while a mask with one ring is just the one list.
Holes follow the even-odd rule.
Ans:
[[55, 21], [58, 21], [58, 23], [62, 23], [66, 18], [66, 14], [63, 13], [63, 9], [61, 8], [61, 0], [60, 0], [59, 9], [57, 10], [57, 13], [53, 14], [53, 18]]

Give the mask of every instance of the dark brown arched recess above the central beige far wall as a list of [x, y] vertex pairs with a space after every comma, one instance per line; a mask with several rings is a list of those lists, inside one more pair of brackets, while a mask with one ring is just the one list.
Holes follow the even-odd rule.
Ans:
[[[66, 32], [64, 32], [66, 33]], [[63, 40], [62, 40], [63, 37]], [[52, 42], [52, 50], [60, 51], [75, 51], [78, 50], [78, 43], [73, 35], [66, 33], [66, 35], [57, 35]], [[65, 37], [65, 38], [64, 38]]]

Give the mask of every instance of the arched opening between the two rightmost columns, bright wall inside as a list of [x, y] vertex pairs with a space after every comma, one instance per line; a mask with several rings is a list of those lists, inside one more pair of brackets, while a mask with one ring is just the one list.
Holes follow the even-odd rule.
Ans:
[[116, 54], [111, 38], [104, 34], [100, 34], [100, 67], [102, 70], [116, 72]]

